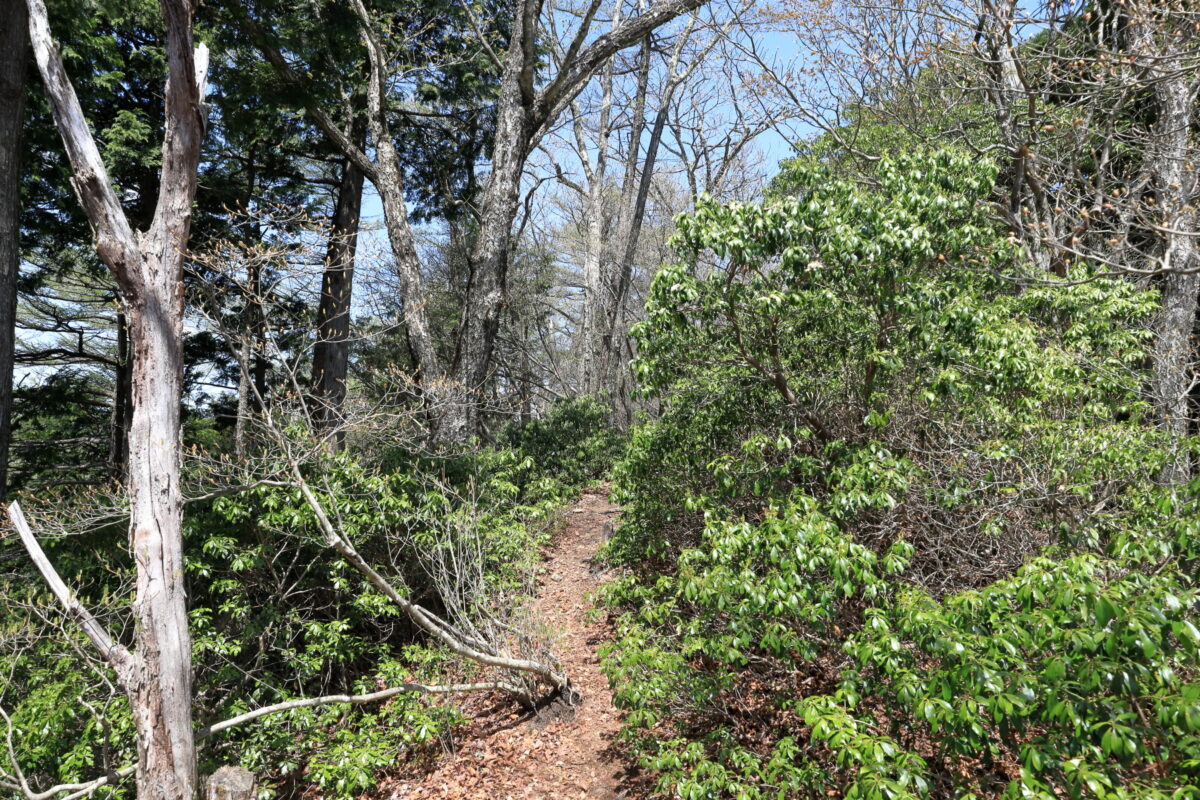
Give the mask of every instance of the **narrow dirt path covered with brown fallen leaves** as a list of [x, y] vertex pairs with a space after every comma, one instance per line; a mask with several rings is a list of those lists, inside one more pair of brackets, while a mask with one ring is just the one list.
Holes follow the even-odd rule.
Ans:
[[[589, 594], [604, 582], [595, 554], [605, 523], [618, 510], [608, 488], [595, 487], [566, 512], [565, 529], [547, 553], [534, 610], [553, 631], [553, 650], [583, 699], [532, 714], [492, 698], [461, 706], [470, 717], [455, 734], [454, 752], [419, 775], [380, 787], [389, 800], [617, 800], [644, 796], [613, 739], [620, 717], [596, 649], [607, 639], [602, 619], [589, 619]], [[644, 778], [643, 778], [644, 780]], [[378, 795], [377, 795], [378, 796]]]

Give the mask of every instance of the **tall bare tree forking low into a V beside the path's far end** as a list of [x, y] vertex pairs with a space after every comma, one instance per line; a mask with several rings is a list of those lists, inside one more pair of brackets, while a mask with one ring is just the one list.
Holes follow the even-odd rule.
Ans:
[[[430, 327], [421, 264], [408, 224], [400, 157], [390, 134], [388, 86], [394, 77], [389, 71], [391, 61], [370, 10], [361, 0], [354, 0], [353, 8], [371, 68], [366, 96], [374, 158], [368, 157], [316, 102], [306, 110], [331, 144], [379, 192], [392, 257], [404, 282], [404, 324], [414, 360], [424, 390], [433, 396], [436, 405], [444, 409], [437, 423], [439, 440], [463, 441], [479, 433], [480, 398], [493, 366], [496, 341], [508, 300], [512, 225], [520, 212], [522, 176], [530, 154], [583, 86], [614, 54], [637, 44], [655, 29], [703, 2], [662, 0], [595, 36], [593, 29], [601, 0], [588, 0], [575, 14], [576, 22], [568, 32], [563, 58], [553, 73], [546, 76], [538, 71], [539, 34], [546, 11], [544, 0], [514, 4], [512, 29], [503, 53], [496, 52], [486, 38], [480, 37], [480, 47], [487, 50], [500, 76], [497, 130], [491, 174], [476, 213], [479, 230], [470, 251], [467, 297], [454, 353], [448, 363], [442, 363]], [[252, 19], [247, 17], [245, 22], [280, 77], [302, 88], [305, 82], [300, 78], [300, 70], [284, 58]], [[449, 395], [452, 402], [439, 402], [439, 395]]]

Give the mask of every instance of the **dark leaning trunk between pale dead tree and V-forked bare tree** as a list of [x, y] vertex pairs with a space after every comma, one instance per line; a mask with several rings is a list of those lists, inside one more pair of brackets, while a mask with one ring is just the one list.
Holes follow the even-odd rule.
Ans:
[[[347, 161], [337, 187], [325, 254], [325, 272], [320, 282], [320, 306], [317, 311], [317, 347], [313, 350], [312, 375], [316, 396], [316, 426], [330, 431], [341, 420], [346, 399], [346, 372], [350, 349], [350, 299], [354, 287], [354, 251], [362, 211], [362, 173]], [[331, 443], [340, 450], [342, 437]]]

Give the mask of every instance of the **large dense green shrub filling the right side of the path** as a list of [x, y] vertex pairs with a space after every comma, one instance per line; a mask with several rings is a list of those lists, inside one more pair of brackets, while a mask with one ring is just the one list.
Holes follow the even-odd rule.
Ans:
[[1192, 796], [1195, 505], [1153, 485], [1154, 297], [1022, 281], [986, 163], [704, 203], [636, 365], [605, 668], [696, 798]]

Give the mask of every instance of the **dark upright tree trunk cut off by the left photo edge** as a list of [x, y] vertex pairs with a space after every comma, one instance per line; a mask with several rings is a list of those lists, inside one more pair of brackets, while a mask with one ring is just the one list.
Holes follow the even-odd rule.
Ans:
[[8, 487], [12, 369], [20, 270], [20, 121], [25, 110], [29, 26], [25, 4], [0, 4], [0, 499]]

